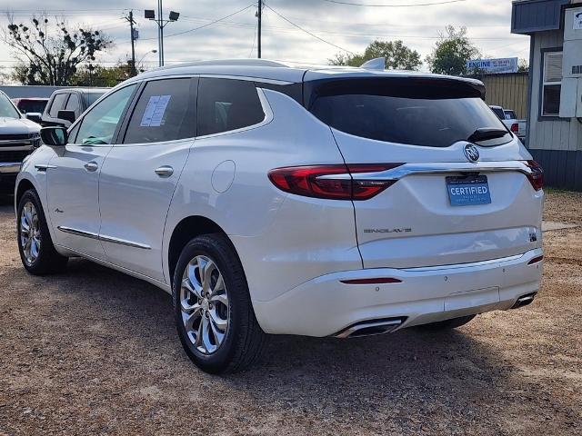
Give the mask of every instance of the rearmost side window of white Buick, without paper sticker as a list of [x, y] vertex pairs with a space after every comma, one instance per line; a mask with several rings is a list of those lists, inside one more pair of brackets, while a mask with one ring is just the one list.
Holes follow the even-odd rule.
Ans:
[[201, 78], [198, 86], [198, 136], [258, 124], [265, 119], [255, 84]]

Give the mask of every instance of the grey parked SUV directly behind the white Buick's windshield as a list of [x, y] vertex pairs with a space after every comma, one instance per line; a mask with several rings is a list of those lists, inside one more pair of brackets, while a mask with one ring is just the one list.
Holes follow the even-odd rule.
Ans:
[[46, 104], [41, 118], [41, 124], [45, 126], [62, 125], [69, 127], [85, 112], [87, 107], [109, 88], [71, 88], [55, 91]]

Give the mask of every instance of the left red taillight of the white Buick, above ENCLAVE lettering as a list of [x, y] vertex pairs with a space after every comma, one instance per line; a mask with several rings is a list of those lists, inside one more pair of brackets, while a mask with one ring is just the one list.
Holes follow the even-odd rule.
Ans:
[[370, 177], [354, 180], [355, 173], [380, 173], [402, 163], [358, 163], [289, 166], [269, 171], [269, 180], [286, 193], [331, 200], [367, 200], [384, 191], [395, 180]]

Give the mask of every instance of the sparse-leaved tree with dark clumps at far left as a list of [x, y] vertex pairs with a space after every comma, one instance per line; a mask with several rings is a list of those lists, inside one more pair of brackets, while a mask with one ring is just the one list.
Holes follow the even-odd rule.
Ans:
[[95, 54], [113, 45], [98, 30], [75, 27], [64, 20], [50, 22], [33, 16], [29, 25], [8, 15], [3, 39], [12, 47], [16, 64], [13, 79], [21, 84], [68, 85], [79, 64], [95, 61]]

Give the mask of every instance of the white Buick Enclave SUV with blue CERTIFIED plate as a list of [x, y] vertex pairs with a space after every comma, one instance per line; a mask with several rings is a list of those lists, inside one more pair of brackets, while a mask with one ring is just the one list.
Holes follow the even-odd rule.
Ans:
[[[542, 172], [478, 81], [216, 61], [116, 86], [42, 131], [15, 203], [26, 270], [83, 256], [173, 295], [206, 372], [266, 333], [356, 337], [531, 302]], [[120, 291], [123, 292], [123, 291]]]

